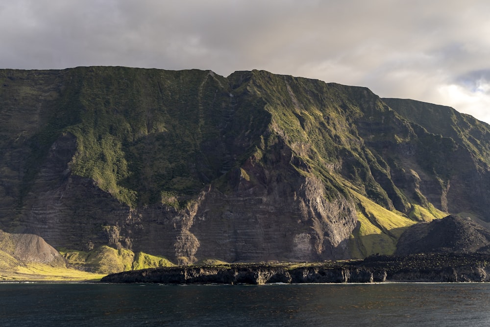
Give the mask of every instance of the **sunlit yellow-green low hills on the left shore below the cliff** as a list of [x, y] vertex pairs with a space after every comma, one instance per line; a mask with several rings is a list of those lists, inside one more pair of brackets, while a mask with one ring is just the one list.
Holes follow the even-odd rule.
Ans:
[[38, 235], [0, 230], [0, 280], [98, 280], [108, 273], [172, 265], [163, 257], [107, 246], [58, 252]]

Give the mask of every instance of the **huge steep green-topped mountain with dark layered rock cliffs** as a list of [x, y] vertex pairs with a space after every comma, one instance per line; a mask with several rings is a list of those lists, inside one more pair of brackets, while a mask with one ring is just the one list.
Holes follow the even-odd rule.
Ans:
[[449, 107], [265, 71], [0, 70], [0, 228], [67, 258], [392, 254], [417, 222], [490, 220], [489, 137]]

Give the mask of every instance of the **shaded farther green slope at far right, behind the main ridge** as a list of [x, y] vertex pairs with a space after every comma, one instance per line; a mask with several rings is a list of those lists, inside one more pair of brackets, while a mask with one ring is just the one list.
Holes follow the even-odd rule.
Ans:
[[414, 100], [383, 101], [430, 135], [440, 137], [440, 149], [424, 144], [421, 150], [427, 153], [427, 168], [439, 174], [447, 189], [442, 199], [445, 211], [466, 212], [488, 222], [490, 126], [450, 107]]

